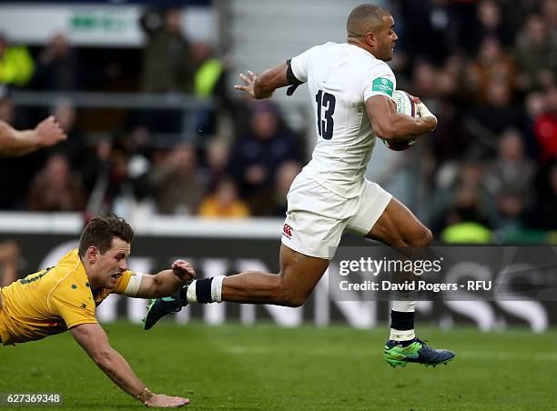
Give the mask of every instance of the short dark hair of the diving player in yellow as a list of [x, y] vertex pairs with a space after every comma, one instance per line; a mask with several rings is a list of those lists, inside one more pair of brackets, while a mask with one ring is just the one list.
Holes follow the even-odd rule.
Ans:
[[90, 246], [96, 246], [100, 254], [105, 254], [112, 246], [114, 237], [131, 243], [134, 230], [124, 218], [114, 214], [91, 218], [79, 238], [79, 256], [86, 256], [87, 248]]

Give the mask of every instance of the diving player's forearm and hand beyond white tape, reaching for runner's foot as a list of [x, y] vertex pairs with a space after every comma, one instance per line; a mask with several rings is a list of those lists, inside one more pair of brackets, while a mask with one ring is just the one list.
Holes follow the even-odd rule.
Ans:
[[137, 290], [137, 298], [159, 298], [172, 296], [184, 283], [193, 279], [196, 271], [184, 260], [176, 260], [169, 270], [155, 276], [143, 276]]

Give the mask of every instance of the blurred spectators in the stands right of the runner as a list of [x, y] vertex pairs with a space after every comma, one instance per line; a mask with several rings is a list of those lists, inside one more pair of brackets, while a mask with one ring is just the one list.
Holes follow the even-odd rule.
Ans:
[[390, 3], [398, 87], [439, 118], [420, 153], [433, 231], [557, 229], [557, 1]]

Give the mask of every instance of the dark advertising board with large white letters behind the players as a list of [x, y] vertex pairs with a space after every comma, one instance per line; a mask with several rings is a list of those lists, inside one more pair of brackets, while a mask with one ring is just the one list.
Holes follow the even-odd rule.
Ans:
[[[67, 250], [77, 245], [77, 236], [73, 234], [19, 233], [3, 235], [2, 239], [7, 237], [14, 238], [22, 248], [25, 259], [21, 276], [53, 266]], [[382, 285], [390, 281], [388, 277], [370, 274], [369, 265], [361, 265], [362, 261], [369, 263], [370, 256], [376, 258], [376, 263], [385, 262], [392, 257], [385, 254], [386, 250], [389, 249], [345, 236], [329, 273], [299, 308], [228, 303], [187, 306], [177, 313], [175, 320], [183, 324], [197, 318], [214, 325], [232, 320], [242, 324], [272, 321], [280, 326], [297, 326], [303, 321], [320, 326], [331, 322], [346, 322], [360, 328], [377, 326], [389, 319], [392, 289], [374, 293], [362, 286], [355, 290], [354, 285], [372, 282]], [[175, 259], [185, 258], [194, 264], [198, 277], [246, 270], [277, 272], [278, 251], [277, 236], [250, 237], [246, 233], [234, 236], [233, 231], [223, 236], [139, 234], [132, 244], [129, 266], [137, 272], [155, 273]], [[420, 321], [447, 327], [473, 324], [482, 330], [512, 324], [527, 326], [536, 332], [555, 325], [557, 304], [556, 293], [552, 290], [557, 286], [557, 268], [553, 254], [553, 247], [549, 246], [518, 249], [433, 247], [431, 264], [435, 264], [435, 256], [444, 258], [443, 274], [441, 279], [437, 276], [432, 280], [432, 273], [426, 272], [420, 278], [430, 283], [430, 289], [416, 298]], [[433, 268], [430, 267], [430, 271]], [[443, 288], [435, 292], [434, 285], [438, 284], [439, 288], [439, 283], [445, 287], [463, 284], [467, 288]], [[139, 322], [145, 310], [144, 300], [110, 296], [97, 308], [97, 316], [101, 322], [114, 321], [117, 317]]]

